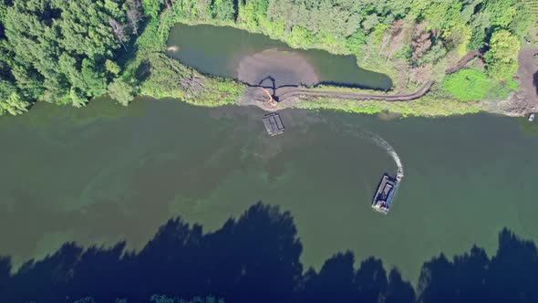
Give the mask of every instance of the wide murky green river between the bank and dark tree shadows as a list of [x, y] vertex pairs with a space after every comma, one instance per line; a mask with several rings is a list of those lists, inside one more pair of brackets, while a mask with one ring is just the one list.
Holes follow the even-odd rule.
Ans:
[[[271, 138], [263, 112], [179, 101], [108, 100], [77, 110], [37, 104], [0, 119], [0, 255], [16, 264], [66, 241], [140, 248], [172, 216], [211, 231], [258, 201], [295, 218], [305, 266], [350, 249], [416, 281], [423, 262], [472, 245], [488, 253], [502, 227], [538, 239], [538, 137], [518, 120], [475, 115], [380, 120], [285, 110]], [[398, 152], [406, 176], [385, 216], [369, 204], [395, 173], [373, 132]]]

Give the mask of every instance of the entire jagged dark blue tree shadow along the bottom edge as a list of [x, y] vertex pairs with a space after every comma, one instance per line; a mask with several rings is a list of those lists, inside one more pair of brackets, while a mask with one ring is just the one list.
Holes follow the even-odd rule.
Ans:
[[440, 255], [426, 262], [417, 293], [374, 257], [356, 269], [353, 254], [340, 253], [319, 271], [304, 272], [301, 252], [293, 217], [260, 203], [212, 234], [172, 219], [139, 253], [126, 252], [125, 243], [88, 249], [67, 243], [11, 274], [9, 258], [0, 258], [0, 301], [211, 294], [227, 302], [538, 302], [536, 246], [506, 229], [491, 258], [475, 246], [453, 260]]

